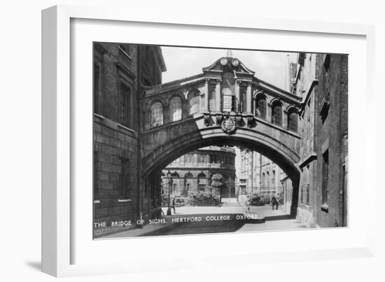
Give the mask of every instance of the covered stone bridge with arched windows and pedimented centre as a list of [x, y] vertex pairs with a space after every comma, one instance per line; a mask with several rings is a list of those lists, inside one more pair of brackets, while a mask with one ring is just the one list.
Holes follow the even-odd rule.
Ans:
[[241, 146], [278, 164], [297, 187], [301, 98], [258, 79], [239, 59], [222, 57], [196, 76], [148, 88], [144, 105], [145, 178], [191, 150]]

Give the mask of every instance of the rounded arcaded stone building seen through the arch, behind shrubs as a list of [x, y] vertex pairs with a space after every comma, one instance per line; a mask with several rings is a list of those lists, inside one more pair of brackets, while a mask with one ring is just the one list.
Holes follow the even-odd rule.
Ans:
[[[172, 174], [172, 181], [167, 173]], [[235, 197], [235, 149], [209, 146], [192, 151], [162, 170], [162, 195], [187, 197], [211, 186], [214, 174], [223, 176], [222, 198]]]

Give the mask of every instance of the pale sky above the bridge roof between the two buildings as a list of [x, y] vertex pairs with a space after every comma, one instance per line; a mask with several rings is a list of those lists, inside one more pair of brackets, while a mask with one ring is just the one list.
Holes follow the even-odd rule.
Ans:
[[[210, 66], [220, 57], [225, 57], [228, 49], [183, 48], [162, 46], [167, 71], [162, 74], [162, 83], [194, 76], [202, 73], [202, 68]], [[288, 59], [297, 61], [294, 52], [267, 52], [250, 50], [231, 50], [255, 76], [267, 83], [285, 89], [288, 73]]]

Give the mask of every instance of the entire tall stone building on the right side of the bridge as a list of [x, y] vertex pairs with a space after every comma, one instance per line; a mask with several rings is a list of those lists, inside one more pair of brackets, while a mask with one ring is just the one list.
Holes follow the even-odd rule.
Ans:
[[302, 97], [297, 218], [309, 227], [346, 226], [348, 56], [298, 56], [293, 93]]

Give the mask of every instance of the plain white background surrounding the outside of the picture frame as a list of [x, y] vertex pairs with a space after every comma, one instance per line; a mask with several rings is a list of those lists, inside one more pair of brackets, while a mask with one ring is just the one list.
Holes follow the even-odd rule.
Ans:
[[[130, 1], [133, 2], [133, 1]], [[377, 48], [377, 111], [367, 122], [384, 120], [379, 106], [384, 102], [380, 91], [385, 76], [385, 21], [384, 8], [379, 1], [139, 1], [130, 3], [127, 10], [135, 10], [137, 5], [167, 13], [196, 13], [202, 9], [230, 9], [241, 14], [253, 3], [255, 16], [280, 17], [299, 20], [326, 20], [329, 22], [354, 22], [376, 24]], [[158, 3], [159, 2], [159, 3]], [[52, 281], [53, 278], [39, 271], [40, 229], [41, 229], [41, 9], [57, 3], [102, 4], [106, 1], [8, 1], [1, 3], [0, 29], [0, 118], [1, 118], [1, 280], [2, 281]], [[127, 1], [109, 1], [126, 3]], [[151, 4], [150, 4], [151, 3]], [[168, 4], [169, 3], [169, 4]], [[174, 9], [174, 10], [173, 10]], [[363, 73], [365, 75], [365, 73]], [[377, 115], [377, 116], [374, 116]], [[378, 125], [378, 129], [383, 126]], [[374, 199], [380, 203], [384, 199], [381, 183], [381, 165], [384, 157], [380, 144], [384, 134], [377, 131], [377, 195], [363, 201], [365, 206]], [[384, 202], [384, 201], [381, 201]], [[206, 280], [248, 280], [258, 281], [356, 281], [356, 279], [380, 281], [384, 262], [384, 209], [377, 205], [377, 256], [376, 258], [335, 260], [318, 262], [287, 262], [277, 265], [265, 264], [238, 269], [211, 269], [202, 265], [189, 272], [156, 272], [115, 276], [94, 276], [65, 279], [70, 281], [196, 281]], [[154, 254], [155, 255], [155, 254]], [[162, 260], [162, 256], [159, 255]], [[172, 263], [170, 261], [169, 263]], [[300, 279], [300, 277], [303, 277]], [[377, 276], [377, 278], [375, 277]]]

